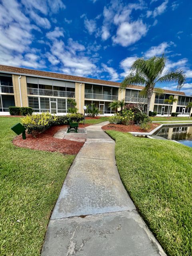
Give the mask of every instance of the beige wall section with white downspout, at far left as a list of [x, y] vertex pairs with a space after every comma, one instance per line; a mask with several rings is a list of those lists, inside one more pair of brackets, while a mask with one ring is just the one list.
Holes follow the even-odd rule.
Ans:
[[[20, 91], [19, 91], [19, 80], [18, 80], [18, 78], [19, 78], [19, 75], [12, 75], [14, 98], [15, 98], [15, 106], [21, 107]], [[21, 78], [20, 78], [20, 86], [21, 86], [22, 106], [23, 107], [28, 107], [26, 76], [21, 76]]]

